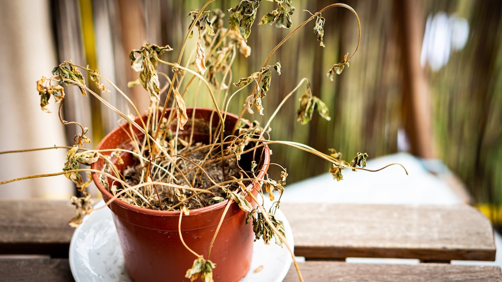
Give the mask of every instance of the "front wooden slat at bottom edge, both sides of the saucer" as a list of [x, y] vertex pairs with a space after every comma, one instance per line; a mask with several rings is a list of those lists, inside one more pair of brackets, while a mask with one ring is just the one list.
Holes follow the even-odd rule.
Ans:
[[[306, 281], [502, 281], [500, 268], [449, 264], [389, 265], [308, 261], [300, 263]], [[5, 281], [73, 281], [67, 259], [0, 259]], [[284, 282], [299, 281], [291, 266]]]

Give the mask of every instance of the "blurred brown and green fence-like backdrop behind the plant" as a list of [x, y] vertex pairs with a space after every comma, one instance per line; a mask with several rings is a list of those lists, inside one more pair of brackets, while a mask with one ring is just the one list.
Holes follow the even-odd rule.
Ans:
[[[175, 50], [165, 59], [176, 60], [190, 24], [186, 15], [204, 1], [169, 0], [2, 0], [0, 23], [0, 128], [2, 151], [70, 145], [75, 128], [63, 128], [57, 108], [40, 111], [35, 81], [63, 60], [99, 68], [146, 108], [128, 55], [146, 42], [169, 44]], [[223, 11], [237, 1], [209, 6]], [[295, 0], [293, 27], [333, 1]], [[314, 95], [329, 107], [330, 121], [314, 117], [308, 125], [296, 122], [298, 99], [286, 102], [272, 123], [272, 138], [305, 143], [322, 152], [334, 148], [351, 159], [357, 152], [370, 158], [409, 152], [425, 160], [442, 161], [457, 177], [472, 203], [496, 207], [502, 202], [502, 2], [499, 0], [351, 0], [361, 19], [362, 37], [350, 68], [333, 83], [325, 76], [333, 63], [352, 53], [357, 24], [342, 8], [323, 13], [326, 18], [321, 48], [313, 23], [298, 32], [269, 64], [280, 62], [281, 76], [273, 77], [264, 99], [268, 117], [301, 78], [312, 83]], [[275, 9], [262, 1], [259, 19]], [[255, 24], [256, 24], [255, 23]], [[266, 25], [248, 39], [252, 55], [237, 58], [233, 81], [259, 70], [270, 50], [290, 30]], [[93, 144], [116, 126], [117, 117], [95, 100], [67, 90], [64, 115], [91, 128]], [[103, 94], [105, 95], [105, 94]], [[230, 111], [240, 112], [245, 97]], [[122, 105], [113, 91], [105, 98]], [[52, 102], [52, 101], [51, 101]], [[199, 103], [203, 106], [205, 102]], [[189, 102], [187, 102], [187, 105]], [[210, 104], [207, 104], [210, 105]], [[122, 108], [123, 109], [123, 108]], [[255, 115], [249, 119], [265, 119]], [[288, 183], [328, 170], [329, 164], [301, 151], [272, 146], [273, 162], [287, 167]], [[34, 173], [60, 171], [64, 150], [0, 155], [0, 181]], [[40, 167], [39, 164], [42, 164]], [[434, 173], [434, 168], [431, 168]], [[2, 197], [65, 198], [74, 189], [64, 177], [15, 182], [0, 187]], [[45, 181], [45, 182], [44, 182]], [[60, 182], [57, 182], [60, 181]], [[29, 183], [29, 184], [27, 184]], [[286, 188], [287, 189], [287, 188]], [[496, 219], [494, 219], [496, 221]]]

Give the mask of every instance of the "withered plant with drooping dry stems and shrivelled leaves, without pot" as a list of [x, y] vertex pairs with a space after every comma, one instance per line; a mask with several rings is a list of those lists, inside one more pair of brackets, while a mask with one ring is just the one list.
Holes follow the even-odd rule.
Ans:
[[[232, 83], [231, 70], [235, 58], [250, 55], [247, 39], [254, 26], [260, 0], [240, 1], [235, 7], [227, 10], [229, 14], [227, 22], [224, 20], [222, 11], [206, 10], [212, 2], [214, 0], [208, 1], [201, 9], [189, 12], [191, 24], [181, 49], [177, 51], [179, 52], [177, 61], [162, 59], [166, 54], [173, 54], [174, 50], [169, 45], [158, 46], [145, 43], [140, 49], [131, 51], [129, 55], [131, 67], [139, 72], [139, 78], [129, 84], [141, 84], [146, 90], [148, 96], [146, 99], [150, 101], [146, 118], [139, 119], [139, 123], [134, 122], [135, 117], [141, 116], [134, 103], [115, 84], [101, 76], [98, 70], [64, 61], [53, 69], [52, 76], [42, 77], [37, 81], [41, 109], [49, 112], [47, 105], [52, 97], [55, 103], [60, 104], [58, 114], [61, 123], [73, 124], [80, 128], [80, 133], [74, 137], [74, 146], [69, 148], [63, 172], [56, 173], [64, 174], [72, 180], [83, 194], [83, 197], [71, 199], [76, 208], [76, 216], [70, 221], [72, 226], [77, 226], [82, 221], [82, 216], [93, 210], [90, 194], [86, 192], [89, 183], [83, 180], [84, 177], [81, 174], [98, 173], [103, 184], [107, 184], [109, 178], [114, 180], [114, 184], [109, 185], [108, 189], [115, 195], [115, 198], [150, 209], [180, 210], [182, 211], [180, 220], [183, 215], [189, 214], [191, 209], [230, 199], [249, 213], [247, 222], [253, 224], [257, 239], [263, 239], [266, 244], [269, 242], [286, 244], [286, 247], [290, 248], [284, 241], [283, 223], [274, 216], [280, 204], [280, 196], [284, 192], [286, 168], [277, 164], [282, 169], [278, 180], [271, 179], [268, 174], [264, 179], [259, 179], [256, 176], [259, 161], [249, 161], [248, 158], [244, 160], [242, 156], [246, 154], [260, 156], [259, 150], [263, 150], [267, 144], [282, 144], [310, 152], [331, 163], [329, 172], [337, 180], [343, 178], [342, 171], [346, 168], [364, 169], [368, 157], [365, 153], [358, 153], [350, 162], [347, 162], [335, 150], [322, 153], [304, 144], [270, 139], [270, 122], [284, 102], [297, 93], [302, 85], [305, 85], [306, 89], [299, 99], [298, 121], [305, 124], [312, 119], [314, 113], [326, 120], [330, 119], [326, 105], [313, 95], [312, 85], [307, 79], [302, 79], [290, 92], [283, 94], [282, 103], [276, 106], [274, 114], [265, 126], [242, 118], [245, 112], [250, 114], [257, 112], [263, 115], [264, 101], [270, 84], [282, 71], [280, 63], [269, 64], [269, 61], [288, 38], [295, 35], [300, 28], [313, 22], [313, 32], [319, 45], [324, 47], [325, 19], [322, 13], [333, 7], [343, 7], [355, 16], [360, 40], [361, 30], [357, 13], [345, 4], [331, 4], [316, 13], [307, 11], [309, 17], [292, 29], [271, 50], [261, 69]], [[273, 0], [273, 2], [276, 3], [277, 8], [267, 13], [258, 25], [272, 24], [278, 28], [291, 28], [293, 25], [291, 15], [295, 12], [291, 0]], [[191, 55], [186, 55], [185, 49], [189, 40], [195, 41], [195, 50]], [[326, 76], [331, 81], [335, 73], [341, 74], [345, 67], [349, 67], [349, 61], [357, 51], [359, 40], [352, 55], [345, 55], [343, 61], [333, 64], [333, 67], [327, 71]], [[189, 58], [186, 60], [189, 63], [182, 65], [182, 58]], [[159, 64], [168, 66], [172, 74], [159, 72]], [[115, 88], [117, 93], [128, 101], [132, 112], [119, 111], [93, 91], [94, 87], [89, 87], [85, 81], [86, 72], [100, 91], [108, 91], [109, 87]], [[85, 149], [83, 145], [91, 142], [88, 137], [88, 128], [78, 122], [63, 119], [62, 106], [66, 99], [63, 85], [77, 87], [82, 95], [93, 96], [120, 115], [127, 124], [124, 128], [130, 131], [131, 143], [127, 147], [113, 149], [112, 154], [108, 155], [103, 154], [103, 151]], [[238, 115], [238, 125], [235, 128], [225, 128], [224, 121], [227, 116], [222, 109], [228, 108], [234, 96], [246, 91], [248, 96]], [[196, 96], [200, 92], [205, 92], [211, 97], [215, 114], [221, 121], [217, 128], [210, 130], [211, 134], [214, 134], [213, 142], [210, 144], [199, 144], [194, 142], [190, 134], [180, 134], [185, 130], [190, 131], [191, 125], [197, 122], [193, 120], [193, 116], [187, 114], [185, 97]], [[278, 94], [275, 93], [275, 95]], [[165, 99], [161, 100], [164, 96]], [[166, 115], [168, 108], [176, 110]], [[139, 137], [133, 129], [144, 134], [145, 137]], [[134, 156], [135, 165], [127, 170], [118, 171], [111, 162], [111, 157], [116, 157], [118, 162], [121, 162], [120, 156], [124, 152]], [[104, 159], [106, 162], [106, 169], [103, 171], [80, 168], [80, 165], [91, 165], [98, 159]], [[41, 176], [49, 175], [28, 176], [2, 183]], [[261, 205], [253, 208], [253, 205], [245, 199], [245, 196], [249, 196], [258, 203], [258, 199], [245, 188], [246, 184], [252, 181], [261, 183], [263, 190], [269, 193], [270, 200], [274, 201], [273, 207], [269, 210]], [[275, 199], [274, 193], [279, 194], [278, 199]], [[183, 238], [181, 239], [183, 242]], [[207, 258], [204, 258], [193, 252], [189, 246], [185, 245], [185, 247], [196, 256], [193, 266], [186, 273], [187, 278], [193, 281], [200, 277], [203, 281], [213, 281], [212, 271], [216, 265], [209, 260], [211, 250], [208, 251]], [[294, 256], [292, 252], [291, 255]], [[298, 272], [301, 278], [300, 271]]]

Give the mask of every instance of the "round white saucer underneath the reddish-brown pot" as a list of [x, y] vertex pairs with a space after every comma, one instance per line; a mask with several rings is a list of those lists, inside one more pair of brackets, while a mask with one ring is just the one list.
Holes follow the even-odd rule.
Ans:
[[[125, 268], [111, 211], [104, 205], [103, 201], [97, 203], [95, 207], [102, 208], [85, 216], [71, 238], [69, 262], [77, 282], [131, 281]], [[268, 206], [270, 203], [266, 202], [265, 207]], [[289, 222], [280, 210], [277, 211], [276, 217], [283, 221], [287, 243], [293, 248], [293, 234]], [[241, 282], [280, 282], [286, 276], [291, 263], [291, 255], [285, 246], [281, 248], [274, 243], [265, 245], [262, 240], [258, 240], [254, 243], [249, 272]]]

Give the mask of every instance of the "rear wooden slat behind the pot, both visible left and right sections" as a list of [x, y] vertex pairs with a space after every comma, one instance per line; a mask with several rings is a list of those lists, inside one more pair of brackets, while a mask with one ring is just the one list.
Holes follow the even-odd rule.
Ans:
[[[467, 205], [283, 203], [298, 256], [494, 260], [490, 222]], [[0, 254], [67, 257], [67, 201], [0, 200]]]

